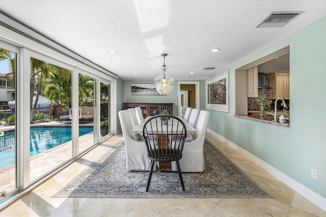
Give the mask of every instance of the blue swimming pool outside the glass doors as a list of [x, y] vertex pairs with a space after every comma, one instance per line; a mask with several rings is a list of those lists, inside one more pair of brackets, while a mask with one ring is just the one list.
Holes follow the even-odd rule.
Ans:
[[[93, 127], [79, 127], [79, 137], [93, 131]], [[71, 141], [71, 127], [33, 127], [30, 129], [30, 157]], [[13, 150], [0, 153], [0, 169], [15, 164], [15, 132], [0, 137], [0, 148], [14, 145]]]

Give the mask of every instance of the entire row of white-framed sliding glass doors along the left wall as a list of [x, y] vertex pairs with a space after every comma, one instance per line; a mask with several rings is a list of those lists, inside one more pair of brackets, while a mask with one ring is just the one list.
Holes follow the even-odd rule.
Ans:
[[47, 49], [0, 40], [0, 207], [110, 137], [116, 122], [115, 79]]

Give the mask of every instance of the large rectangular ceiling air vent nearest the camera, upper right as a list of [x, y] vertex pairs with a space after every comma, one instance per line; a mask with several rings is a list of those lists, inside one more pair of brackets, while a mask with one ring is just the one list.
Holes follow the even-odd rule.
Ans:
[[256, 28], [282, 27], [303, 11], [271, 12]]

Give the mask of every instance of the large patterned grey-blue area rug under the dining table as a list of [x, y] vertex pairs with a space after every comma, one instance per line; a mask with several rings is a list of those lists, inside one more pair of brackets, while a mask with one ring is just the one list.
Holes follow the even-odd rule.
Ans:
[[175, 172], [153, 172], [146, 192], [149, 172], [125, 170], [123, 141], [110, 149], [52, 197], [271, 198], [208, 141], [204, 144], [205, 171], [182, 173], [185, 192]]

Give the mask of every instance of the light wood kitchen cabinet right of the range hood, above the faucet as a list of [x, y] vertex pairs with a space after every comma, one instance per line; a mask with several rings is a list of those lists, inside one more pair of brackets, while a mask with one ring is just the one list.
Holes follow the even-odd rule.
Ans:
[[270, 77], [270, 98], [290, 99], [290, 73], [289, 72], [273, 72]]

